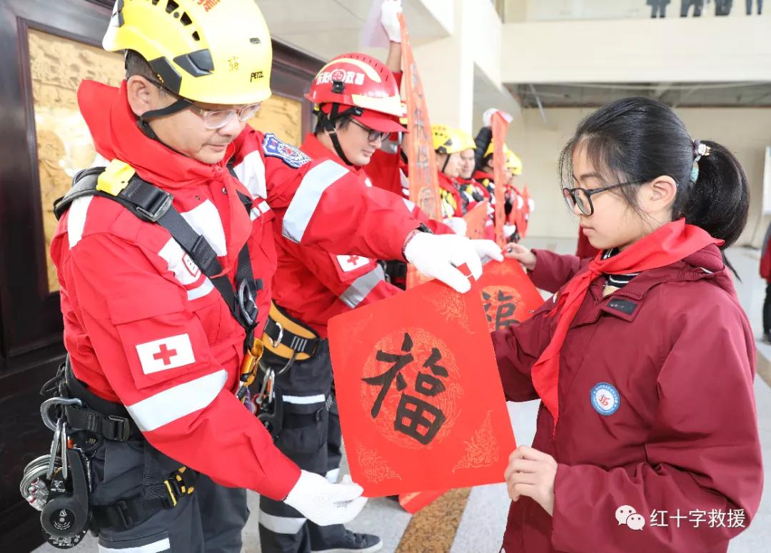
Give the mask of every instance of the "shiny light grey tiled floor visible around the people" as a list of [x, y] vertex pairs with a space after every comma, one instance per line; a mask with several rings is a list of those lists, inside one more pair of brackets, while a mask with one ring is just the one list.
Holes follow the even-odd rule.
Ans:
[[[537, 240], [527, 244], [531, 247], [555, 249], [567, 253], [574, 248], [574, 242], [569, 240]], [[739, 298], [746, 309], [756, 336], [760, 336], [760, 313], [766, 290], [765, 282], [758, 276], [759, 254], [757, 251], [737, 248], [729, 252], [729, 258], [739, 271], [742, 282], [737, 282]], [[765, 363], [766, 374], [771, 375], [771, 346], [759, 344], [759, 361]], [[766, 474], [771, 474], [771, 387], [763, 379], [756, 379], [756, 400], [758, 405], [760, 437], [763, 444], [763, 458], [766, 461]], [[514, 435], [518, 443], [530, 443], [534, 436], [534, 421], [537, 402], [510, 404], [509, 411], [513, 424]], [[251, 494], [251, 511], [257, 511], [258, 496]], [[458, 505], [458, 508], [463, 508]], [[456, 532], [451, 553], [494, 553], [500, 545], [503, 535], [508, 500], [502, 484], [476, 487], [471, 491], [466, 503], [460, 525]], [[409, 524], [410, 516], [402, 511], [396, 503], [386, 499], [369, 501], [362, 514], [356, 518], [349, 528], [379, 534], [383, 539], [383, 551], [397, 551], [402, 534]], [[423, 521], [424, 523], [426, 521]], [[429, 521], [430, 523], [430, 521]], [[430, 531], [426, 532], [426, 548], [423, 551], [436, 551], [430, 547]], [[730, 553], [755, 553], [768, 551], [771, 543], [771, 494], [766, 493], [760, 506], [760, 511], [751, 527], [732, 541]], [[53, 553], [52, 548], [38, 548], [39, 553]], [[90, 553], [97, 551], [94, 540], [89, 539], [80, 546], [79, 551]], [[254, 516], [250, 519], [244, 531], [244, 551], [258, 553], [261, 551], [258, 538], [258, 521]], [[407, 553], [402, 549], [400, 553]], [[267, 552], [266, 552], [267, 553]], [[412, 548], [409, 549], [412, 553]], [[684, 552], [685, 553], [685, 552]]]

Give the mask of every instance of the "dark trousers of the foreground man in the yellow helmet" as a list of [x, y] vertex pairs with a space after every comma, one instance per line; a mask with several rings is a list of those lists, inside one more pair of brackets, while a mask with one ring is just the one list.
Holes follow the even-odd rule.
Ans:
[[[181, 465], [145, 440], [105, 440], [91, 461], [92, 504], [113, 505], [139, 495], [148, 462], [164, 476]], [[128, 530], [99, 528], [99, 551], [240, 553], [248, 517], [246, 490], [215, 484], [200, 474], [194, 493], [181, 497], [173, 509], [158, 511]]]

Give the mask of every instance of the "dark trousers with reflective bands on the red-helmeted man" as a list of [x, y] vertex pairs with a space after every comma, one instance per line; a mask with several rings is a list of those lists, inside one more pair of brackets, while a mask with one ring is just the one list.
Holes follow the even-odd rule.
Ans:
[[[263, 357], [274, 369], [284, 359]], [[295, 362], [278, 376], [276, 387], [284, 398], [284, 420], [275, 437], [276, 447], [303, 470], [330, 479], [342, 458], [340, 416], [332, 390], [329, 344], [323, 340], [311, 359]], [[310, 553], [326, 549], [345, 533], [342, 524], [318, 526], [281, 501], [260, 497], [260, 545], [263, 553]]]

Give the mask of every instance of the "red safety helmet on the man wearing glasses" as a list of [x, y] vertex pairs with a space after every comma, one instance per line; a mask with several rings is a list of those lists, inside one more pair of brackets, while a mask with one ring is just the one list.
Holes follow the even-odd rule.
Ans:
[[399, 123], [404, 107], [396, 78], [372, 56], [349, 53], [332, 59], [305, 97], [315, 104], [328, 130], [334, 130], [335, 120], [350, 115], [372, 130], [406, 132]]

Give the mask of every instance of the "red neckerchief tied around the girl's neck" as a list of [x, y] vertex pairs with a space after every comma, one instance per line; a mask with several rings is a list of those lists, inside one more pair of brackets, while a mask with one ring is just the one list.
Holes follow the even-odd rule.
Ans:
[[603, 260], [602, 254], [598, 254], [589, 263], [588, 271], [577, 275], [565, 285], [559, 292], [557, 305], [547, 315], [557, 316], [554, 336], [535, 362], [531, 375], [538, 396], [554, 416], [555, 431], [559, 416], [557, 384], [560, 376], [560, 350], [567, 329], [581, 308], [591, 282], [600, 275], [622, 275], [666, 267], [701, 251], [709, 244], [719, 246], [722, 243], [722, 240], [712, 238], [702, 228], [685, 224], [685, 219], [678, 219], [651, 232], [618, 255]]

